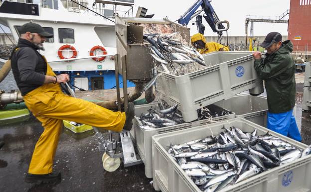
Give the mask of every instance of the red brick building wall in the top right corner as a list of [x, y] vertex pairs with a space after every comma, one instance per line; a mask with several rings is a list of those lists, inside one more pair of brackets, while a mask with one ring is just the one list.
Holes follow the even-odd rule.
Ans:
[[294, 51], [311, 51], [310, 0], [291, 0], [288, 27], [288, 38], [294, 44]]

